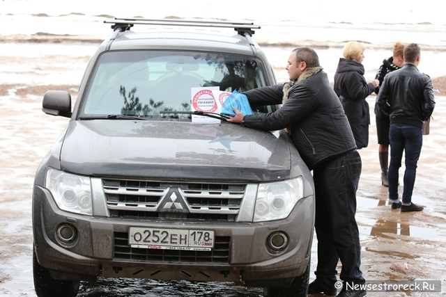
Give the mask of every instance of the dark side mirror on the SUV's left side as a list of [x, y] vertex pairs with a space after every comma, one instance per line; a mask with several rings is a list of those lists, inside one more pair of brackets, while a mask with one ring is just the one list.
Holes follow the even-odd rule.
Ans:
[[43, 95], [42, 111], [47, 115], [71, 118], [71, 95], [65, 90], [49, 90]]

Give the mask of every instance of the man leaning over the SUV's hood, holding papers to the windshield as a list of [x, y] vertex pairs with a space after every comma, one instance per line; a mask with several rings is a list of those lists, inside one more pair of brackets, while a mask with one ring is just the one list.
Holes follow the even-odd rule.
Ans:
[[355, 138], [313, 49], [294, 49], [286, 70], [288, 83], [243, 93], [253, 106], [283, 104], [280, 109], [258, 115], [243, 115], [234, 109], [236, 115], [228, 121], [268, 131], [286, 129], [300, 156], [313, 170], [318, 265], [309, 293], [336, 294], [336, 266], [341, 259], [344, 287], [338, 296], [365, 296], [364, 289], [354, 290], [354, 285], [365, 283], [360, 271], [360, 239], [355, 220], [356, 190], [362, 169]]

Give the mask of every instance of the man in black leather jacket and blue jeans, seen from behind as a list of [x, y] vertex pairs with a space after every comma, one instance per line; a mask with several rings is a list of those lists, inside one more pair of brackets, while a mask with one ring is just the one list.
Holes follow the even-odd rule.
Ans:
[[[404, 60], [406, 65], [385, 76], [376, 102], [385, 114], [390, 115], [388, 180], [391, 208], [401, 207], [401, 211], [421, 211], [423, 207], [412, 203], [413, 185], [423, 145], [423, 122], [432, 115], [435, 100], [431, 78], [417, 69], [420, 63], [420, 47], [415, 43], [404, 47]], [[401, 205], [398, 195], [398, 175], [403, 151], [406, 170]]]

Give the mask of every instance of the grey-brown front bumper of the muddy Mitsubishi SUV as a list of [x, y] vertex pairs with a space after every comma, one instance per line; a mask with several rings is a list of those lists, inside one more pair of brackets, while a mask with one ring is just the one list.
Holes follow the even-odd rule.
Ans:
[[[57, 227], [69, 224], [77, 240], [61, 243]], [[229, 238], [227, 262], [202, 260], [183, 262], [180, 257], [141, 260], [116, 257], [117, 235], [125, 236], [130, 226], [215, 230], [215, 236]], [[82, 279], [88, 276], [150, 278], [195, 281], [254, 281], [293, 278], [304, 273], [309, 261], [314, 230], [314, 197], [301, 199], [284, 220], [264, 223], [217, 223], [176, 220], [121, 220], [95, 218], [61, 211], [45, 188], [33, 191], [33, 232], [36, 256], [54, 278]], [[281, 252], [267, 248], [272, 232], [284, 232], [289, 244]], [[132, 249], [129, 248], [131, 251]], [[139, 249], [138, 249], [139, 250]], [[139, 251], [136, 252], [139, 252]], [[57, 273], [56, 273], [57, 271]]]

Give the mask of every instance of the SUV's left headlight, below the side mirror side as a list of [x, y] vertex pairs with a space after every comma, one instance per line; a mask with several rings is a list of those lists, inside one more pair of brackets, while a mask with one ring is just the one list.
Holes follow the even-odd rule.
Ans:
[[60, 209], [93, 216], [89, 177], [48, 168], [45, 187], [52, 193]]

